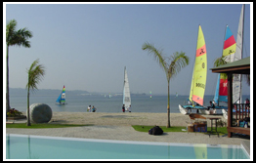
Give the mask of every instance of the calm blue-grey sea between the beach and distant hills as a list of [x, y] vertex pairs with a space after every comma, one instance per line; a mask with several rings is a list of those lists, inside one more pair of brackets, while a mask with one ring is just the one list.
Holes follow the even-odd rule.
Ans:
[[[10, 105], [11, 108], [16, 108], [19, 111], [26, 111], [27, 95], [25, 89], [10, 89]], [[88, 105], [94, 105], [96, 112], [118, 113], [122, 112], [123, 97], [122, 94], [90, 94], [82, 91], [65, 90], [66, 104], [56, 104], [56, 100], [61, 94], [61, 90], [36, 90], [30, 93], [29, 105], [32, 103], [48, 104], [53, 112], [87, 112]], [[170, 96], [170, 112], [180, 113], [179, 104], [187, 104], [188, 96], [176, 95]], [[208, 106], [209, 102], [214, 98], [213, 95], [204, 96], [204, 106]], [[243, 95], [242, 102], [250, 95]], [[131, 95], [132, 112], [167, 112], [167, 95], [149, 95], [132, 94]], [[221, 103], [227, 105], [227, 103]]]

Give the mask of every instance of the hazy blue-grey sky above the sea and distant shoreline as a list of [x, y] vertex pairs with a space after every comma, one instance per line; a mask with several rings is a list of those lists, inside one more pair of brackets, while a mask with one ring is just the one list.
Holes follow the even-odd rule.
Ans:
[[[198, 25], [205, 38], [208, 72], [205, 95], [215, 92], [217, 73], [213, 62], [222, 56], [228, 24], [236, 39], [241, 4], [4, 4], [6, 23], [17, 20], [27, 27], [31, 48], [10, 47], [10, 88], [25, 88], [26, 69], [37, 59], [46, 67], [40, 89], [85, 90], [122, 93], [126, 66], [132, 93], [167, 95], [162, 68], [148, 52], [145, 42], [162, 48], [166, 56], [185, 52], [190, 64], [171, 80], [171, 94], [189, 95]], [[244, 52], [252, 46], [252, 3], [245, 5]], [[3, 41], [6, 84], [6, 44]], [[252, 52], [252, 50], [251, 50]], [[252, 61], [252, 59], [251, 59]], [[252, 83], [251, 83], [252, 84]], [[5, 86], [4, 86], [5, 89]], [[250, 94], [244, 82], [242, 93]]]

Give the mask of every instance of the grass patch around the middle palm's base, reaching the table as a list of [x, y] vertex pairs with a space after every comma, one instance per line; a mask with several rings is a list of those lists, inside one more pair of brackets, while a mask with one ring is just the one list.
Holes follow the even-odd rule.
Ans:
[[[153, 128], [153, 126], [140, 126], [140, 125], [133, 125], [132, 126], [134, 128], [134, 130], [138, 131], [138, 132], [149, 132], [149, 129]], [[181, 127], [181, 126], [172, 126], [170, 128], [166, 128], [166, 126], [159, 126], [164, 133], [167, 132], [187, 132], [187, 131], [182, 131], [182, 129], [186, 130], [186, 127]], [[207, 132], [211, 131], [211, 127], [207, 127]], [[228, 134], [227, 131], [227, 127], [218, 127], [217, 128], [218, 133], [220, 134], [220, 136]], [[205, 133], [202, 133], [205, 134]]]

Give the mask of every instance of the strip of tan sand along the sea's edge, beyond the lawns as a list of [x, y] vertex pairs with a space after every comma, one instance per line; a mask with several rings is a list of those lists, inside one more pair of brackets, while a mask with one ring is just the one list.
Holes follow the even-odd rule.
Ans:
[[[205, 117], [221, 117], [215, 115], [204, 115]], [[171, 126], [187, 126], [191, 123], [189, 115], [181, 113], [170, 114]], [[225, 120], [225, 119], [222, 119]], [[226, 120], [225, 120], [226, 121]], [[66, 124], [92, 124], [107, 126], [165, 126], [167, 124], [167, 113], [145, 113], [145, 112], [54, 112], [50, 123]], [[210, 125], [210, 120], [207, 119]]]

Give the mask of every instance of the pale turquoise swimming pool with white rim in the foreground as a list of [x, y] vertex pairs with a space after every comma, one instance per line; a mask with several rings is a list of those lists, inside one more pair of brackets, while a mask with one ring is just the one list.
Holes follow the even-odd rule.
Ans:
[[240, 145], [6, 135], [7, 159], [249, 159]]

